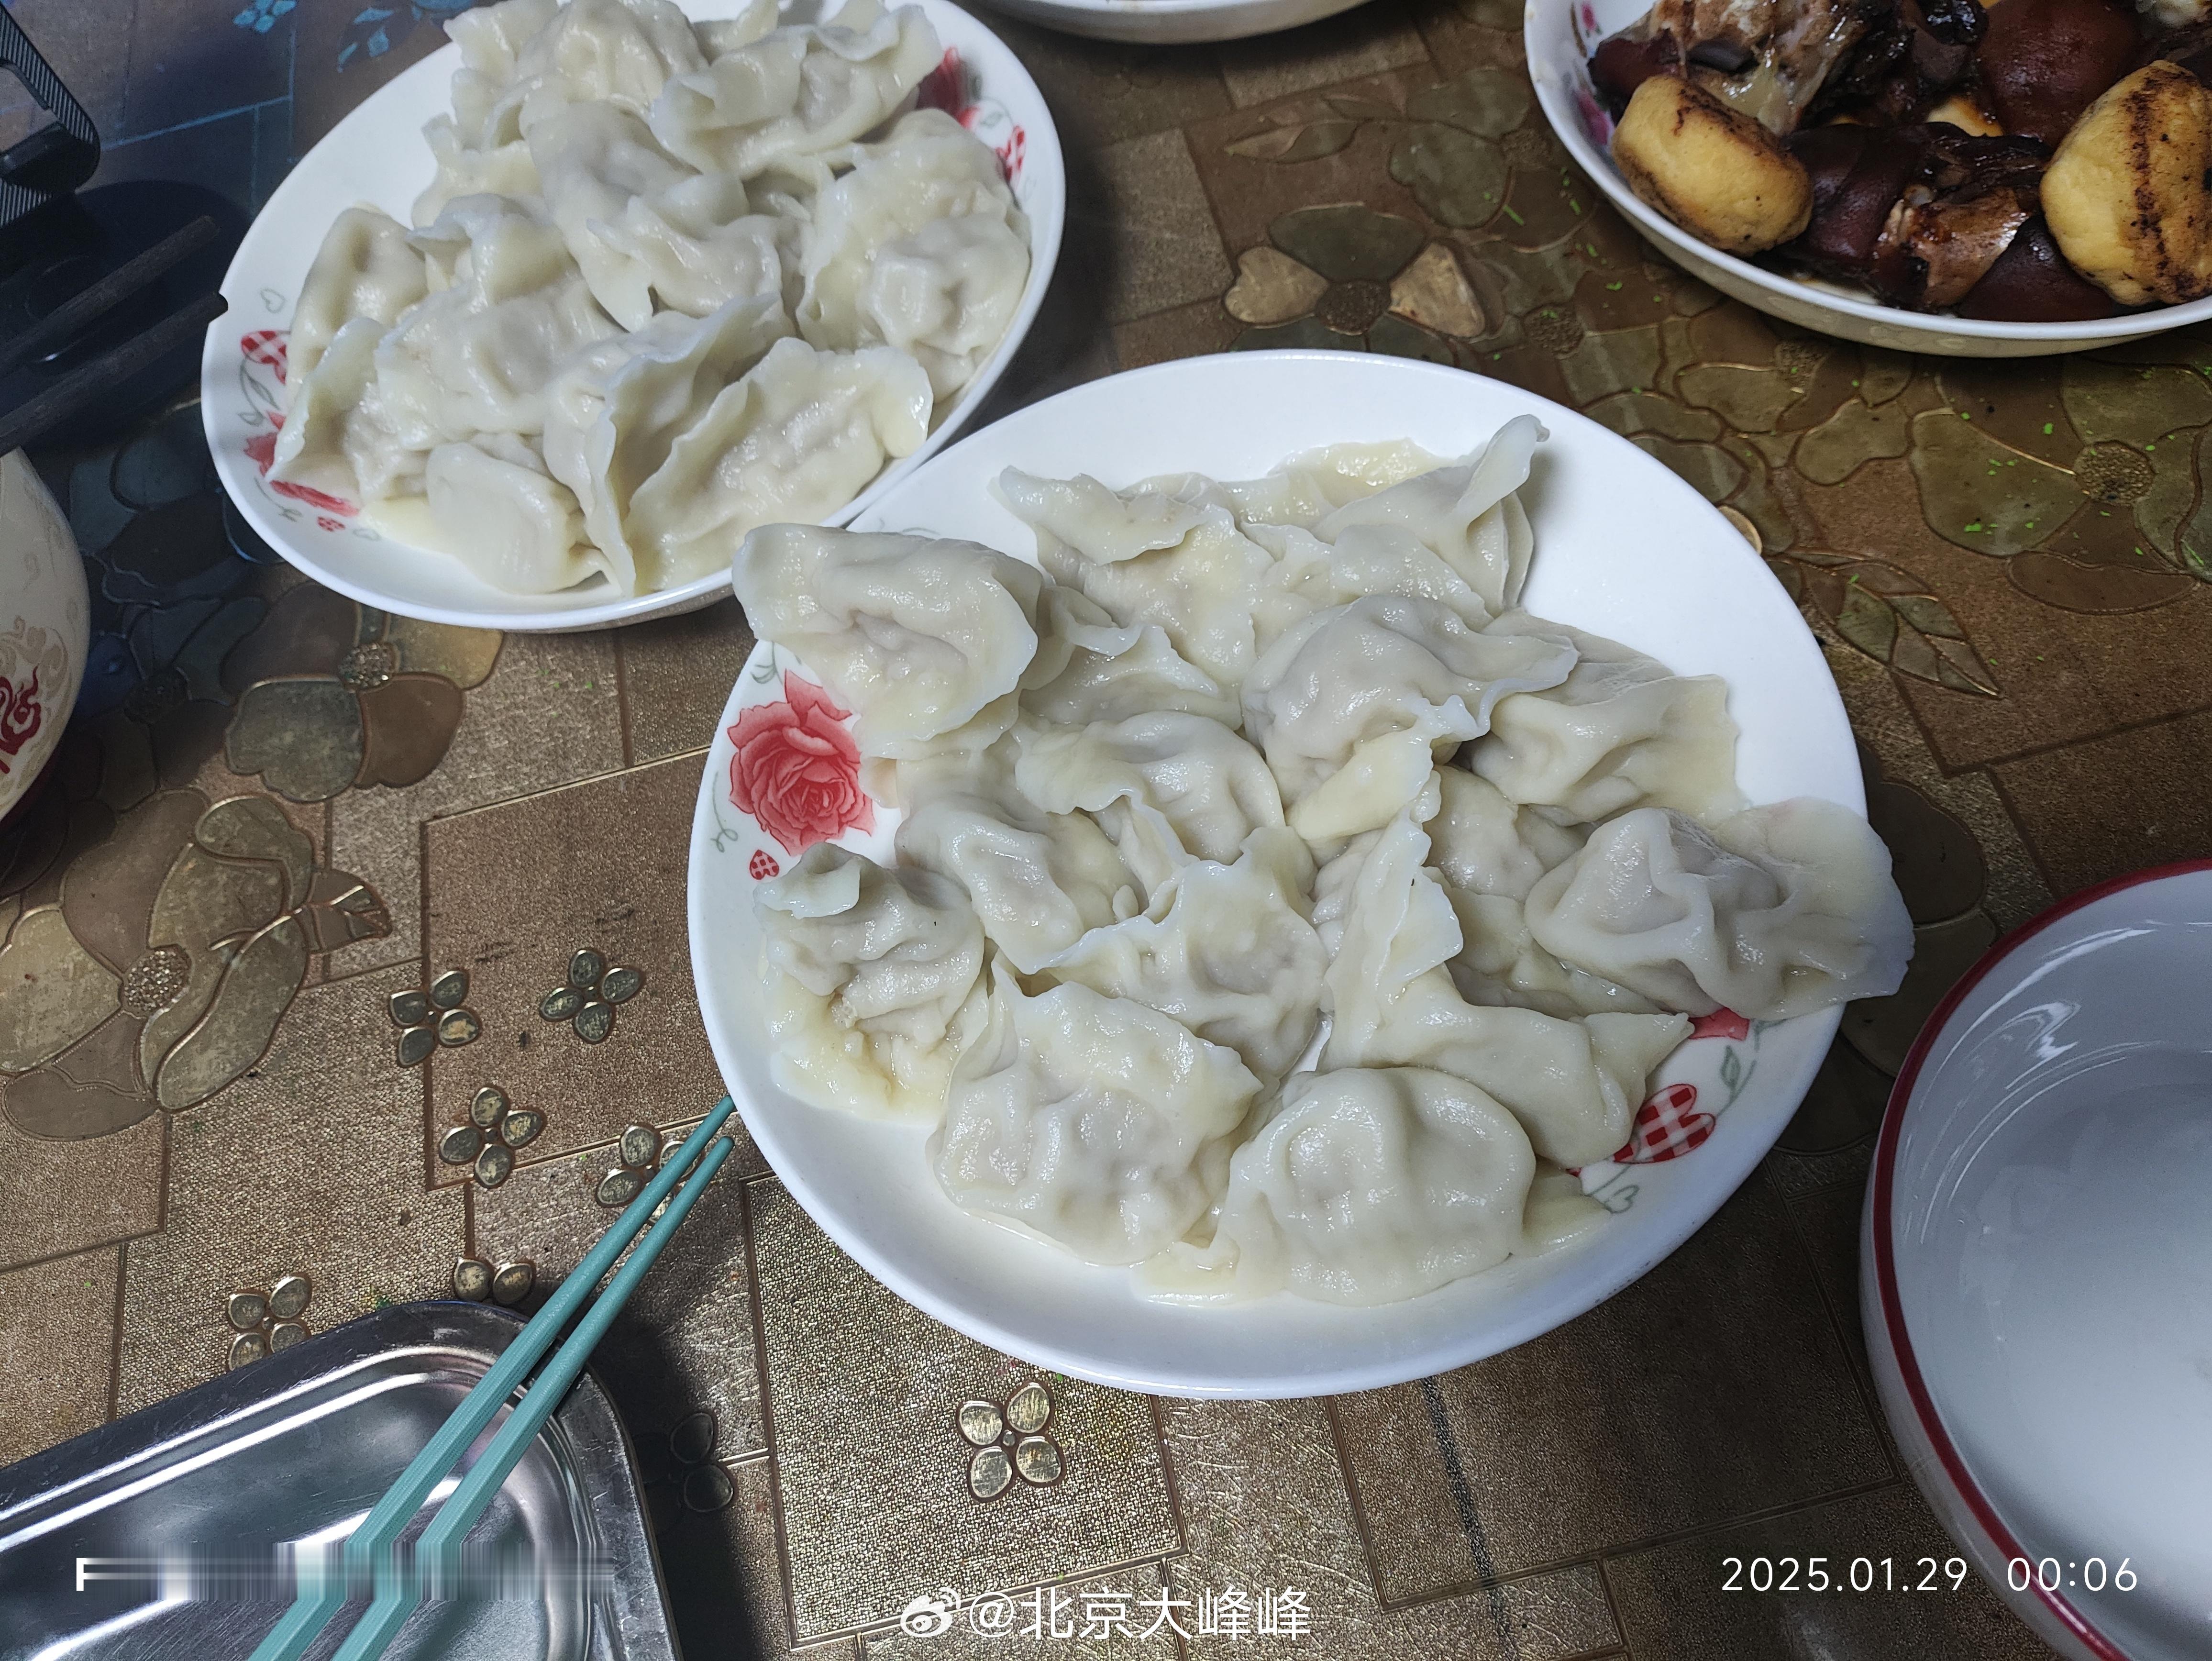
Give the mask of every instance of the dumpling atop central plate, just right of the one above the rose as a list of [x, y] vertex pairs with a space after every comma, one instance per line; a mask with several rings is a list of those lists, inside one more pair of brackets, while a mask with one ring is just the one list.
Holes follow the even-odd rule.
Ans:
[[1115, 621], [1159, 626], [1186, 659], [1221, 686], [1252, 668], [1252, 610], [1272, 557], [1237, 529], [1210, 480], [1188, 493], [1148, 484], [1110, 491], [1095, 478], [1031, 478], [1009, 467], [1000, 500], [1037, 533], [1037, 560]]

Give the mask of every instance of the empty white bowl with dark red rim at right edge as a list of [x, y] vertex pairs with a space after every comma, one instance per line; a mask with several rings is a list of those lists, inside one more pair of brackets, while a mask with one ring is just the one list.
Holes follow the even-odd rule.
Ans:
[[1920, 1033], [1867, 1188], [1913, 1480], [2077, 1661], [2212, 1652], [2208, 982], [2212, 860], [2046, 911]]

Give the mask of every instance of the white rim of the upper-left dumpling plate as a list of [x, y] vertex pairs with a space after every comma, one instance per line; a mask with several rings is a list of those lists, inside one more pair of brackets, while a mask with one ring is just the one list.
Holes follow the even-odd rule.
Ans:
[[[975, 44], [989, 42], [991, 62], [987, 66], [987, 102], [993, 102], [998, 93], [1011, 88], [1022, 104], [1024, 179], [1033, 195], [1033, 201], [1022, 203], [1022, 212], [1029, 217], [1031, 239], [1029, 279], [1022, 288], [1022, 305], [1006, 325], [1006, 334], [1000, 338], [998, 347], [993, 347], [991, 356], [975, 372], [969, 385], [960, 389], [960, 396], [945, 411], [945, 418], [936, 425], [936, 429], [931, 429], [914, 453], [889, 460], [867, 489], [830, 515], [825, 524], [845, 524], [854, 515], [865, 513], [867, 506], [885, 491], [894, 489], [900, 480], [911, 476], [945, 445], [960, 436], [967, 420], [984, 405], [1000, 376], [1006, 374], [1006, 367], [1020, 352], [1022, 341], [1035, 325], [1037, 314], [1044, 310], [1053, 272], [1060, 265], [1060, 246], [1066, 230], [1066, 155], [1060, 144], [1060, 128], [1053, 122], [1051, 106], [1046, 104], [1035, 77], [1029, 73], [1029, 66], [1022, 64], [1015, 51], [993, 29], [989, 29], [971, 11], [953, 4], [953, 0], [896, 2], [920, 7], [929, 15], [929, 22], [938, 29], [940, 40], [949, 49], [960, 51], [962, 62], [969, 69], [978, 66], [971, 55]], [[734, 15], [741, 9], [741, 0], [679, 0], [679, 4], [692, 22], [712, 22], [717, 18]], [[816, 7], [810, 7], [807, 0], [799, 0], [799, 7], [792, 7], [790, 2], [785, 4], [787, 13], [814, 9]], [[949, 31], [947, 22], [951, 24]], [[951, 40], [949, 35], [958, 35], [958, 40]], [[361, 104], [347, 111], [347, 115], [299, 159], [292, 173], [285, 175], [283, 184], [279, 184], [270, 199], [261, 206], [261, 212], [254, 215], [254, 223], [248, 226], [246, 239], [239, 243], [237, 254], [230, 259], [230, 268], [223, 272], [221, 294], [230, 303], [230, 310], [208, 325], [201, 343], [201, 427], [208, 436], [208, 451], [215, 456], [217, 478], [237, 511], [246, 518], [254, 533], [279, 553], [279, 557], [296, 571], [314, 577], [325, 588], [334, 588], [363, 606], [398, 613], [403, 617], [451, 624], [456, 628], [573, 633], [617, 624], [637, 624], [653, 617], [672, 617], [677, 613], [710, 606], [730, 593], [728, 571], [706, 573], [703, 577], [695, 577], [677, 588], [613, 597], [597, 604], [562, 604], [560, 595], [511, 595], [509, 599], [513, 604], [504, 608], [498, 602], [456, 608], [425, 604], [407, 595], [392, 595], [380, 591], [374, 582], [363, 582], [349, 571], [334, 566], [330, 560], [316, 557], [310, 540], [292, 537], [272, 506], [265, 480], [246, 458], [234, 425], [243, 416], [254, 416], [257, 411], [252, 409], [254, 396], [241, 385], [243, 378], [239, 374], [241, 330], [243, 334], [252, 334], [259, 330], [285, 332], [290, 327], [290, 303], [285, 303], [283, 312], [272, 314], [270, 321], [252, 323], [252, 318], [259, 318], [261, 310], [268, 310], [263, 294], [281, 294], [281, 290], [265, 283], [272, 274], [270, 265], [274, 263], [272, 243], [290, 237], [290, 230], [279, 230], [279, 226], [294, 215], [312, 219], [316, 226], [327, 223], [332, 212], [327, 201], [312, 199], [316, 190], [316, 159], [323, 157], [327, 161], [338, 155], [356, 142], [354, 133], [378, 126], [387, 119], [385, 113], [394, 102], [400, 102], [409, 93], [420, 93], [431, 80], [442, 86], [458, 66], [460, 46], [447, 42], [429, 58], [400, 71], [361, 100]], [[394, 88], [405, 91], [396, 93]], [[409, 155], [409, 166], [414, 159], [416, 157]], [[427, 146], [420, 146], [420, 161], [425, 168], [429, 166]], [[396, 217], [405, 221], [405, 215]], [[312, 259], [312, 252], [307, 257]], [[299, 268], [299, 274], [305, 274], [305, 265]], [[425, 551], [425, 557], [436, 555]], [[487, 588], [484, 593], [493, 591]]]

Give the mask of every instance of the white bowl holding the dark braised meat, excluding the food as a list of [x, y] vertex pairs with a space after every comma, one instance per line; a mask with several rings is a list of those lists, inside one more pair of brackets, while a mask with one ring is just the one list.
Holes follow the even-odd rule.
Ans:
[[2093, 323], [1980, 323], [1969, 316], [1933, 316], [1849, 294], [1827, 283], [1785, 276], [1747, 259], [1708, 248], [1672, 219], [1648, 208], [1606, 153], [1613, 119], [1590, 88], [1590, 51], [1599, 40], [1626, 29], [1650, 11], [1650, 0], [1528, 0], [1522, 40], [1528, 77], [1553, 133], [1588, 173], [1606, 199], [1621, 210], [1646, 241], [1677, 265], [1712, 283], [1723, 294], [1756, 305], [1767, 316], [1798, 323], [1860, 345], [1893, 352], [1933, 352], [1947, 358], [2039, 358], [2055, 352], [2088, 352], [2115, 341], [2139, 341], [2212, 318], [2212, 299], [2163, 305], [2135, 316]]

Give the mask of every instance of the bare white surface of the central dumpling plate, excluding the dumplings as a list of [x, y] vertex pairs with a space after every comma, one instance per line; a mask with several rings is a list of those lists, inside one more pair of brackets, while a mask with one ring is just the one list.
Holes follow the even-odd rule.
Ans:
[[[1635, 445], [1500, 380], [1349, 352], [1164, 363], [975, 433], [856, 529], [971, 537], [1033, 560], [1029, 526], [989, 493], [1006, 467], [1128, 487], [1177, 471], [1252, 478], [1296, 451], [1356, 440], [1411, 438], [1462, 456], [1524, 411], [1551, 429], [1522, 491], [1535, 524], [1526, 604], [1677, 670], [1725, 675], [1754, 801], [1807, 794], [1865, 812], [1820, 648], [1743, 537]], [[761, 648], [739, 675], [692, 821], [692, 971], [714, 1059], [761, 1152], [838, 1245], [938, 1320], [1035, 1365], [1168, 1396], [1270, 1398], [1396, 1385], [1517, 1345], [1613, 1296], [1712, 1216], [1790, 1121], [1836, 1031], [1827, 1011], [1683, 1044], [1637, 1124], [1635, 1159], [1584, 1174], [1617, 1214], [1551, 1256], [1376, 1309], [1292, 1296], [1150, 1303], [1128, 1270], [1079, 1263], [958, 1210], [922, 1157], [925, 1130], [810, 1108], [770, 1082], [752, 887], [794, 849], [732, 805], [728, 728], [748, 706], [783, 701], [787, 672], [807, 679], [790, 652]], [[889, 858], [889, 821], [878, 809], [872, 834], [841, 840]]]

